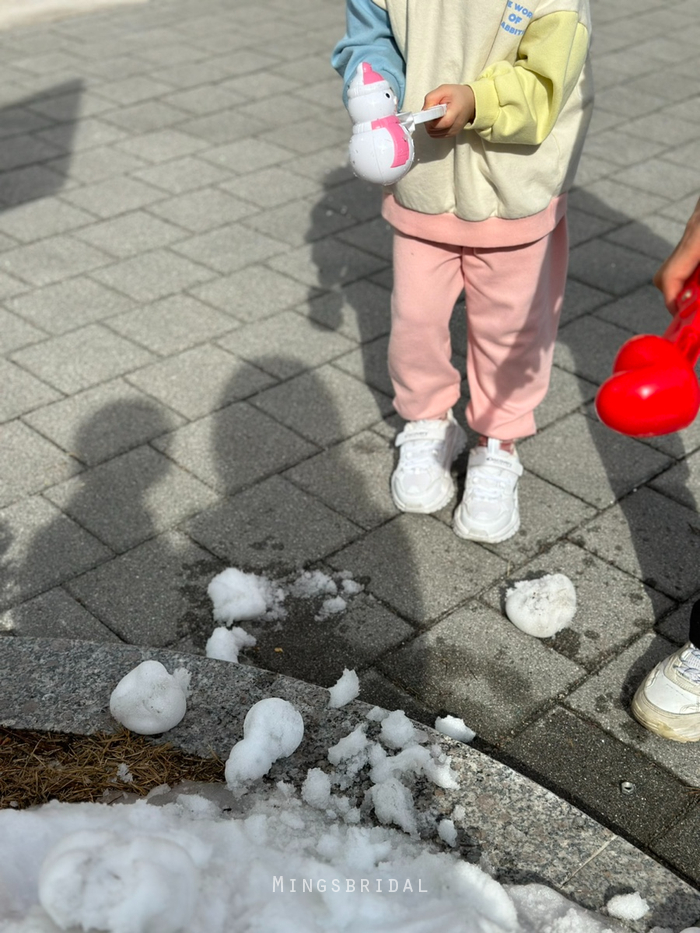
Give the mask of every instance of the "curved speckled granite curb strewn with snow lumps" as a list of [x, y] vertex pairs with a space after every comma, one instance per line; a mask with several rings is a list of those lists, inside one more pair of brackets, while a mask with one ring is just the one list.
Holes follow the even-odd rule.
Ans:
[[[273, 781], [299, 787], [326, 751], [361, 722], [370, 706], [353, 701], [329, 709], [327, 690], [247, 665], [137, 646], [64, 639], [0, 640], [0, 724], [16, 729], [90, 734], [113, 731], [109, 696], [127, 671], [143, 660], [161, 661], [171, 672], [192, 675], [184, 720], [156, 741], [197, 754], [226, 757], [242, 737], [246, 712], [267, 696], [292, 702], [306, 733], [290, 759], [277, 762]], [[425, 728], [421, 726], [421, 728]], [[540, 883], [592, 910], [611, 896], [639, 891], [650, 906], [638, 931], [655, 926], [683, 929], [700, 921], [697, 892], [658, 862], [594, 819], [528, 778], [461, 742], [430, 730], [452, 759], [458, 790], [419, 785], [416, 806], [449, 815], [464, 806], [460, 854], [506, 884]]]

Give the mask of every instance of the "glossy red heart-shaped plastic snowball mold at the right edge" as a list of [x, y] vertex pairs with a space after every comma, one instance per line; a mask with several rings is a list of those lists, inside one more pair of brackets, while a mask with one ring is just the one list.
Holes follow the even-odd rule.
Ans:
[[700, 266], [676, 299], [676, 314], [662, 337], [641, 334], [622, 345], [613, 374], [596, 396], [598, 417], [632, 437], [670, 434], [700, 410], [695, 363], [700, 356]]

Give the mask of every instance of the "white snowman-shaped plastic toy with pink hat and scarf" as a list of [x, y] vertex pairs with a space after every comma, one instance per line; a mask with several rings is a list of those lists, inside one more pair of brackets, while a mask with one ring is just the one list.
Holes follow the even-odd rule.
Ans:
[[446, 107], [438, 104], [418, 113], [397, 113], [398, 101], [389, 82], [360, 62], [348, 85], [348, 113], [353, 122], [350, 164], [359, 178], [393, 185], [413, 165], [412, 133], [419, 123], [437, 120]]

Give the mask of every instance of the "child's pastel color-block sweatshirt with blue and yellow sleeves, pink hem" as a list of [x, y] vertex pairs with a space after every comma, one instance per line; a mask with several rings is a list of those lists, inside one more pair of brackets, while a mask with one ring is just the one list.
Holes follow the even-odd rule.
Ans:
[[346, 0], [346, 10], [332, 57], [346, 100], [367, 61], [403, 110], [421, 110], [440, 84], [468, 84], [476, 101], [456, 137], [416, 132], [416, 163], [389, 189], [384, 216], [404, 233], [464, 245], [552, 230], [593, 103], [588, 0]]

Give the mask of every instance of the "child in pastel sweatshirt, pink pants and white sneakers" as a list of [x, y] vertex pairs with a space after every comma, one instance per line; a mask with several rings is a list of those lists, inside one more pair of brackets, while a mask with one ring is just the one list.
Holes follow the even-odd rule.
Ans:
[[450, 501], [466, 439], [449, 321], [465, 290], [470, 452], [458, 535], [520, 524], [515, 441], [535, 433], [568, 259], [566, 192], [590, 118], [588, 0], [346, 0], [332, 63], [368, 62], [401, 109], [447, 105], [415, 134], [416, 164], [385, 189], [394, 228], [389, 372], [407, 424], [391, 489], [407, 512]]

